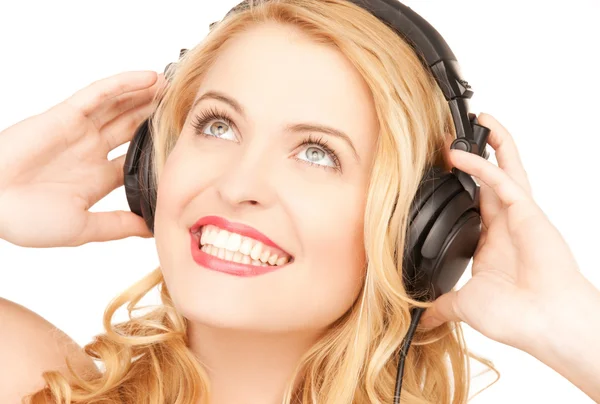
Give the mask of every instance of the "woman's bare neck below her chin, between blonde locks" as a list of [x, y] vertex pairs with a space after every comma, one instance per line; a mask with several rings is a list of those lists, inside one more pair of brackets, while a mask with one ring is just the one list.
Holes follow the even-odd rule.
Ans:
[[211, 404], [281, 404], [318, 332], [258, 332], [189, 323], [190, 350], [210, 378]]

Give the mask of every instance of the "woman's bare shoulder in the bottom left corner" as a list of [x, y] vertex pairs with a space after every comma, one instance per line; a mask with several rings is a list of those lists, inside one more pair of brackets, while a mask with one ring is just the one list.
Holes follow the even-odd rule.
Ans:
[[67, 334], [26, 307], [0, 298], [0, 403], [20, 404], [23, 396], [43, 388], [45, 371], [68, 376], [67, 358], [78, 373], [100, 374]]

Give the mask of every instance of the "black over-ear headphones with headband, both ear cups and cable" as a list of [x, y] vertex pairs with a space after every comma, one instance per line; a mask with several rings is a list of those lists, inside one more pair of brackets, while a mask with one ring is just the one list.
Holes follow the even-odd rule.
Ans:
[[[456, 129], [456, 139], [450, 148], [487, 159], [490, 129], [479, 125], [476, 115], [468, 111], [468, 100], [473, 91], [462, 79], [454, 53], [437, 30], [398, 0], [346, 1], [362, 7], [392, 28], [412, 46], [424, 67], [433, 73], [448, 101]], [[248, 8], [248, 0], [232, 8], [225, 18], [245, 8]], [[186, 51], [180, 51], [180, 58]], [[167, 77], [172, 72], [172, 65], [170, 63], [165, 68]], [[131, 211], [143, 217], [150, 231], [154, 232], [156, 190], [150, 186], [150, 119], [137, 128], [127, 150], [124, 185]], [[481, 235], [479, 185], [469, 174], [456, 168], [448, 172], [433, 166], [423, 176], [409, 214], [402, 277], [407, 292], [415, 298], [435, 300], [455, 286], [477, 248]], [[421, 308], [413, 309], [411, 325], [399, 352], [395, 403], [400, 402], [404, 360], [423, 311]]]

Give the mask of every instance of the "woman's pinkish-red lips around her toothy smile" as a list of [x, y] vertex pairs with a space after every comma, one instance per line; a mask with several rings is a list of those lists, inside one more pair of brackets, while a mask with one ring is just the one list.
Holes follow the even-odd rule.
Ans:
[[[258, 230], [246, 226], [241, 223], [233, 223], [228, 220], [219, 217], [219, 216], [205, 216], [198, 220], [191, 228], [190, 228], [190, 247], [192, 258], [196, 261], [200, 266], [211, 269], [218, 272], [227, 273], [235, 276], [258, 276], [263, 275], [269, 272], [276, 271], [278, 269], [284, 268], [285, 266], [291, 263], [288, 262], [284, 265], [269, 265], [269, 266], [257, 266], [251, 264], [242, 264], [241, 262], [233, 262], [220, 259], [215, 257], [214, 255], [205, 253], [199, 247], [200, 244], [200, 233], [199, 230], [204, 225], [215, 225], [223, 230], [227, 230], [230, 232], [238, 233], [242, 236], [247, 236], [262, 242], [265, 245], [268, 245], [274, 249], [280, 250], [282, 253], [291, 256], [286, 253], [281, 247], [275, 244], [272, 240], [270, 240], [267, 236], [259, 232]], [[292, 259], [293, 260], [293, 259]]]

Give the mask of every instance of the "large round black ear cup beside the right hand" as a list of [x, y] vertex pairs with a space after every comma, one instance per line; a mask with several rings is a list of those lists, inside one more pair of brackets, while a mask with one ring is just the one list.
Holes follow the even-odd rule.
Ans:
[[[467, 181], [477, 186], [471, 177]], [[475, 252], [479, 203], [456, 175], [432, 167], [413, 200], [409, 223], [403, 280], [413, 298], [433, 300], [454, 287]]]

